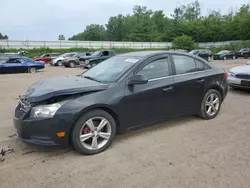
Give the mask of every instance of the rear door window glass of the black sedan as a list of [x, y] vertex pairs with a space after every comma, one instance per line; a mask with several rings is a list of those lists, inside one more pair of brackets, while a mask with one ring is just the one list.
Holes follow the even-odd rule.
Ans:
[[193, 58], [183, 55], [173, 55], [176, 74], [185, 74], [196, 71]]

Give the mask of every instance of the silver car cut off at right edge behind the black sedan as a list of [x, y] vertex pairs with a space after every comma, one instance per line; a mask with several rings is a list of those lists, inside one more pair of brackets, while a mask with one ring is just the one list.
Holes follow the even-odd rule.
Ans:
[[250, 89], [249, 65], [234, 67], [228, 73], [228, 83], [232, 89]]

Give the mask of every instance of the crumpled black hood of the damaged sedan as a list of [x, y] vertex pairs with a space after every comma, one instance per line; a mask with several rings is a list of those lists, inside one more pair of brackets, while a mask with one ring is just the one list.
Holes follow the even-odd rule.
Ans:
[[101, 91], [108, 86], [80, 76], [61, 76], [36, 82], [27, 90], [25, 97], [29, 102], [35, 103], [55, 96]]

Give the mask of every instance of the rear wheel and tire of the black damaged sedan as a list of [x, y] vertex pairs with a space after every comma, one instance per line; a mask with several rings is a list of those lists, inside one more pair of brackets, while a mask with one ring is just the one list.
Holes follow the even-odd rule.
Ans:
[[203, 97], [199, 116], [207, 120], [215, 118], [220, 111], [221, 102], [221, 94], [215, 89], [210, 89]]

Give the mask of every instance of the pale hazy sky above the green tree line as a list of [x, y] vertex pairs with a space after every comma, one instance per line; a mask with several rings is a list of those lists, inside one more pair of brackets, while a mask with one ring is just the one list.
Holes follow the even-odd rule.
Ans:
[[[0, 0], [0, 32], [10, 40], [57, 40], [83, 32], [89, 24], [106, 24], [109, 17], [131, 14], [135, 5], [163, 10], [169, 16], [187, 0]], [[201, 11], [227, 13], [250, 0], [200, 0]]]

